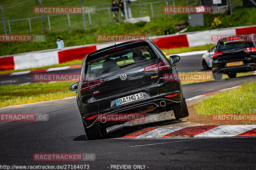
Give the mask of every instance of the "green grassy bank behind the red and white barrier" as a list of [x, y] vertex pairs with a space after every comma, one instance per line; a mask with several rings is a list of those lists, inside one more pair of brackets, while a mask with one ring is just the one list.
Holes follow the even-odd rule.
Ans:
[[[147, 0], [147, 2], [153, 1], [156, 0]], [[44, 6], [63, 6], [63, 4], [65, 4], [65, 6], [80, 5], [80, 1], [78, 0], [43, 0], [42, 3]], [[104, 3], [109, 3], [109, 1], [84, 1], [84, 6]], [[140, 2], [132, 2], [132, 4], [138, 3]], [[185, 1], [175, 1], [175, 3], [176, 6], [185, 5]], [[32, 12], [33, 7], [38, 6], [37, 1], [34, 0], [29, 0], [29, 2], [25, 0], [4, 0], [2, 1], [1, 6], [4, 10], [5, 20], [38, 16], [38, 14], [34, 14]], [[56, 48], [56, 37], [58, 36], [64, 40], [65, 46], [78, 46], [97, 43], [96, 36], [98, 34], [164, 35], [165, 30], [170, 30], [170, 33], [174, 34], [178, 32], [172, 28], [174, 24], [181, 21], [188, 21], [188, 15], [177, 14], [172, 15], [171, 18], [168, 18], [168, 14], [164, 14], [162, 11], [163, 6], [166, 6], [166, 3], [153, 5], [154, 18], [151, 17], [150, 5], [143, 7], [132, 7], [133, 17], [136, 18], [147, 15], [151, 17], [151, 21], [147, 24], [144, 22], [139, 22], [136, 24], [116, 24], [114, 19], [112, 19], [112, 22], [109, 22], [107, 11], [96, 11], [95, 14], [91, 15], [92, 25], [88, 24], [88, 15], [86, 15], [86, 23], [88, 26], [86, 30], [83, 29], [81, 14], [72, 14], [70, 15], [71, 28], [68, 27], [67, 16], [56, 16], [51, 18], [52, 31], [49, 31], [47, 18], [45, 18], [45, 42], [1, 42], [0, 56]], [[251, 8], [248, 10], [237, 5], [232, 16], [229, 14], [229, 11], [226, 11], [225, 14], [204, 14], [204, 26], [188, 26], [188, 30], [186, 32], [227, 28], [233, 26], [255, 25], [256, 20], [254, 18], [256, 18], [256, 8]], [[31, 25], [32, 33], [29, 32], [28, 21], [12, 22], [12, 34], [43, 34], [41, 19], [31, 20]], [[8, 24], [6, 26], [8, 31]], [[3, 34], [2, 28], [3, 25], [0, 24], [0, 34]]]

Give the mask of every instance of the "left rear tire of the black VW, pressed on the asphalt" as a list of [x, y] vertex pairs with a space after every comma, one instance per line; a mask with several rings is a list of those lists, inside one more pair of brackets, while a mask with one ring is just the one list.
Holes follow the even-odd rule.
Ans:
[[84, 124], [84, 131], [88, 140], [102, 139], [105, 138], [107, 134], [107, 128], [99, 126], [99, 124], [92, 125], [89, 128]]

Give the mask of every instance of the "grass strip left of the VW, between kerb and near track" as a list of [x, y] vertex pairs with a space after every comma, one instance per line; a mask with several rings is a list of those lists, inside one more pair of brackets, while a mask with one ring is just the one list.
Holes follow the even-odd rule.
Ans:
[[37, 82], [24, 85], [0, 86], [0, 108], [75, 96], [69, 86], [73, 81]]

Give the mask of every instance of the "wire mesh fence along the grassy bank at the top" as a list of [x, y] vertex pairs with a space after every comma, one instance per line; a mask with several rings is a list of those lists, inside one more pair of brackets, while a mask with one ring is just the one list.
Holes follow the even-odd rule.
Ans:
[[[118, 0], [116, 0], [118, 1]], [[210, 0], [137, 0], [132, 1], [131, 14], [133, 18], [149, 16], [150, 19], [169, 17], [175, 14], [165, 14], [164, 6], [207, 6]], [[226, 1], [226, 2], [224, 2]], [[127, 1], [125, 1], [127, 2]], [[226, 3], [229, 10], [236, 11], [244, 8], [255, 8], [256, 0], [212, 0], [213, 4]], [[117, 2], [118, 4], [118, 2]], [[231, 4], [231, 6], [229, 6]], [[43, 24], [41, 14], [35, 14], [33, 8], [39, 6], [37, 0], [20, 0], [12, 3], [1, 3], [3, 8], [7, 34], [42, 33]], [[68, 0], [42, 0], [43, 6], [81, 6], [81, 1]], [[112, 17], [111, 1], [83, 1], [84, 7], [92, 7], [94, 12], [85, 13], [86, 28], [100, 27], [114, 24]], [[122, 21], [119, 10], [118, 18]], [[0, 34], [4, 34], [3, 20], [0, 20]], [[82, 14], [44, 14], [44, 23], [47, 32], [84, 29]]]

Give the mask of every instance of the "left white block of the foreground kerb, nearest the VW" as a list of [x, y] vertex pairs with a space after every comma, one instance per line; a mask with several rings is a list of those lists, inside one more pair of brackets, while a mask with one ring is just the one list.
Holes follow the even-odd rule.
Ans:
[[178, 131], [180, 129], [183, 129], [185, 127], [181, 127], [181, 128], [172, 128], [172, 127], [159, 127], [157, 129], [154, 129], [152, 131], [148, 131], [144, 134], [141, 134], [139, 136], [137, 136], [136, 138], [157, 138], [157, 137], [163, 137], [164, 135], [167, 135], [169, 133]]

